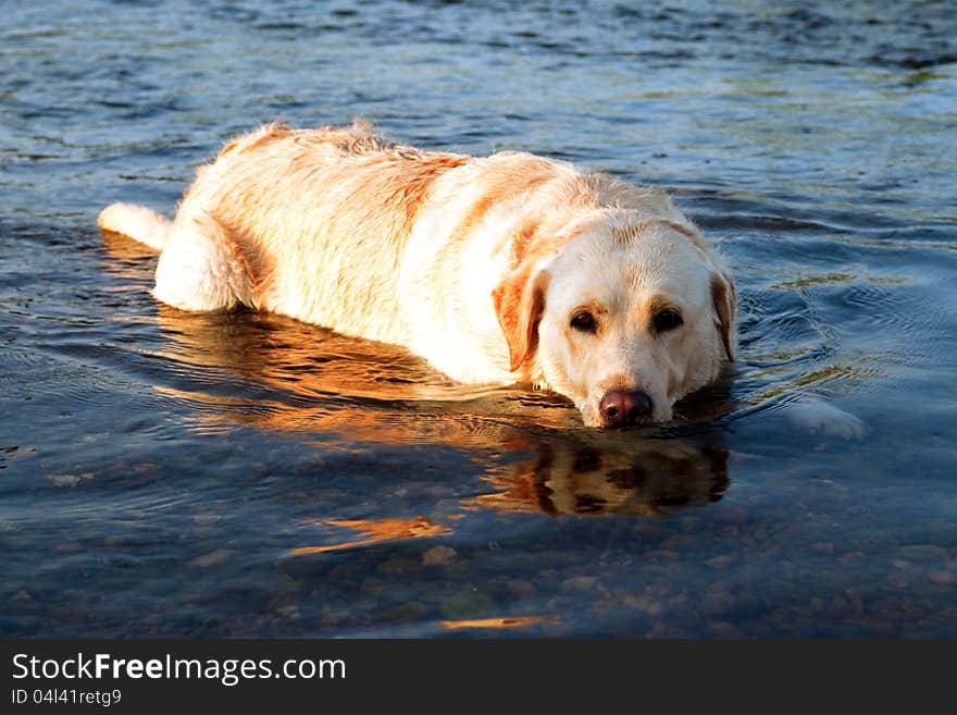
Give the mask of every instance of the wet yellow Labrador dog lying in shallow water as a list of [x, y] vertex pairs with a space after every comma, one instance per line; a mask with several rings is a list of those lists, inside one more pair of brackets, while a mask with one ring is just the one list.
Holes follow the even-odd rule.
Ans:
[[272, 123], [200, 167], [173, 221], [113, 204], [98, 223], [161, 251], [171, 306], [402, 345], [564, 395], [588, 427], [670, 420], [734, 359], [734, 282], [670, 197], [532, 153]]

